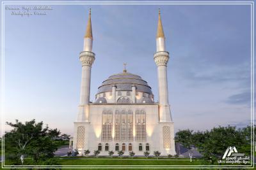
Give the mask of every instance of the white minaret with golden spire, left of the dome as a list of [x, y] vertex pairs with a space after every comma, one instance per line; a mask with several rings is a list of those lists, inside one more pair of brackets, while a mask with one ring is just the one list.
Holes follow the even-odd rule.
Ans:
[[92, 21], [90, 9], [86, 32], [84, 35], [84, 48], [83, 52], [81, 52], [79, 56], [82, 63], [82, 80], [77, 122], [89, 121], [91, 69], [93, 61], [95, 60], [95, 53], [92, 52], [92, 41]]

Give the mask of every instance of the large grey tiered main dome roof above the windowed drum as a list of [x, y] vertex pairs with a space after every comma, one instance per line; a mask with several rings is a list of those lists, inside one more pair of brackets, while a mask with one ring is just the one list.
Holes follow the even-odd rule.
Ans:
[[119, 73], [109, 76], [109, 78], [102, 82], [98, 88], [98, 94], [102, 92], [111, 92], [113, 85], [116, 86], [116, 91], [131, 91], [132, 85], [136, 86], [136, 92], [146, 92], [152, 94], [151, 87], [147, 81], [140, 76], [131, 73]]

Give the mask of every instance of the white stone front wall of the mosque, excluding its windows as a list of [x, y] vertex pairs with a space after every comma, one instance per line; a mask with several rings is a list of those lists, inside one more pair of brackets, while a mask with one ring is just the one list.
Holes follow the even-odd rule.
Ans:
[[[98, 149], [99, 143], [102, 144], [102, 152], [100, 155], [108, 155], [108, 152], [105, 150], [105, 144], [109, 144], [109, 150], [113, 150], [115, 152], [114, 155], [117, 155], [115, 151], [115, 144], [118, 143], [120, 150], [122, 149], [122, 143], [125, 143], [126, 151], [124, 155], [129, 155], [128, 146], [129, 143], [132, 143], [133, 152], [136, 155], [143, 155], [143, 152], [146, 151], [146, 144], [150, 145], [150, 155], [153, 155], [154, 151], [161, 152], [161, 155], [167, 155], [175, 152], [174, 148], [174, 140], [172, 141], [172, 149], [169, 152], [166, 152], [163, 148], [163, 125], [159, 124], [159, 116], [158, 116], [158, 104], [90, 104], [90, 117], [88, 124], [82, 124], [86, 126], [86, 135], [87, 139], [84, 141], [84, 148], [81, 150], [89, 149], [91, 151], [91, 155], [93, 155], [93, 151]], [[113, 127], [112, 127], [112, 141], [102, 141], [102, 111], [103, 110], [112, 110], [113, 111]], [[135, 111], [136, 110], [144, 110], [146, 113], [146, 141], [136, 141], [135, 136], [133, 141], [115, 141], [115, 110], [132, 110], [133, 112], [133, 124], [135, 122]], [[75, 135], [74, 135], [74, 148], [76, 148], [77, 141], [77, 127], [81, 125], [81, 123], [75, 123]], [[168, 124], [171, 128], [170, 136], [173, 137], [173, 123]], [[87, 131], [88, 130], [88, 131]], [[135, 132], [135, 124], [133, 125], [133, 131]], [[162, 142], [161, 142], [162, 141]], [[139, 144], [143, 145], [143, 151], [139, 151]], [[173, 152], [174, 150], [174, 152]]]

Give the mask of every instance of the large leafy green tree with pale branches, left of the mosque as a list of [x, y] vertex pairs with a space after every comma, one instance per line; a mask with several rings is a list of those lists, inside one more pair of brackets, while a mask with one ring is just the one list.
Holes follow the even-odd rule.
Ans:
[[[6, 122], [13, 129], [4, 134], [4, 147], [6, 159], [15, 164], [24, 164], [24, 158], [30, 157], [33, 164], [43, 164], [44, 161], [54, 157], [54, 152], [63, 143], [60, 131], [43, 127], [43, 122], [35, 119], [25, 122]], [[20, 162], [18, 162], [20, 160]]]

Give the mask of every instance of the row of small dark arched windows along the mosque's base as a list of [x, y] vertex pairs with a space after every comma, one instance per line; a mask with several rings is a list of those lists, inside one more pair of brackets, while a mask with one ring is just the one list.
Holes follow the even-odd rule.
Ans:
[[[98, 150], [99, 151], [103, 150], [103, 145], [101, 143], [99, 143], [99, 145], [98, 145]], [[119, 145], [119, 143], [116, 143], [115, 144], [115, 151], [120, 151], [120, 150], [122, 150], [123, 152], [125, 152], [125, 151], [132, 152], [133, 151], [132, 144], [129, 143], [128, 148], [126, 148], [125, 143], [122, 143], [122, 145]], [[150, 146], [147, 143], [146, 146], [145, 146], [145, 151], [149, 151], [149, 150], [150, 150]], [[105, 144], [104, 151], [109, 151], [109, 144], [108, 143]], [[139, 144], [139, 151], [143, 152], [142, 143]]]

